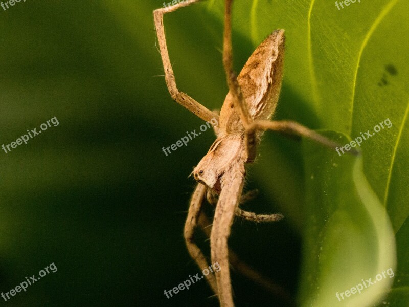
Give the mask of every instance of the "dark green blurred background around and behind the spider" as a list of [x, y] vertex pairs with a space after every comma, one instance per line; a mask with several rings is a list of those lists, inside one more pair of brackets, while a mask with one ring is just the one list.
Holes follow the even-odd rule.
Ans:
[[[0, 145], [54, 116], [59, 120], [27, 145], [0, 152], [0, 291], [51, 262], [58, 268], [27, 292], [0, 299], [0, 305], [218, 305], [208, 298], [205, 281], [171, 299], [164, 295], [199, 272], [183, 239], [194, 188], [188, 175], [215, 137], [208, 130], [167, 157], [162, 152], [203, 122], [172, 101], [164, 78], [155, 77], [163, 68], [152, 10], [161, 6], [27, 0], [0, 9]], [[197, 5], [166, 16], [165, 27], [180, 89], [220, 108], [228, 92], [219, 51], [222, 25]], [[239, 70], [254, 47], [238, 35], [233, 39]], [[280, 102], [276, 118], [297, 120], [307, 111], [283, 87], [287, 103]], [[314, 127], [312, 119], [303, 123]], [[246, 185], [259, 188], [260, 195], [247, 209], [285, 214], [281, 201], [299, 206], [298, 152], [297, 142], [266, 136]], [[285, 161], [295, 172], [277, 171]], [[300, 180], [294, 185], [288, 178]], [[275, 190], [282, 191], [276, 200]], [[237, 221], [230, 240], [244, 260], [292, 296], [300, 221], [297, 216], [274, 225]], [[205, 238], [198, 240], [208, 253]], [[237, 306], [285, 305], [232, 276]]]

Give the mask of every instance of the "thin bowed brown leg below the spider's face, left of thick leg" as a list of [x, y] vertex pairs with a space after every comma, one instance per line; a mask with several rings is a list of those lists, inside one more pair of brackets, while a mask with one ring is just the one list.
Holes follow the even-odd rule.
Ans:
[[[199, 247], [194, 243], [194, 231], [197, 227], [197, 221], [200, 215], [200, 209], [205, 199], [206, 187], [202, 184], [197, 184], [190, 201], [188, 217], [185, 223], [184, 236], [186, 240], [186, 247], [188, 248], [190, 256], [196, 261], [196, 264], [203, 271], [208, 269], [208, 261], [205, 255], [201, 252]], [[216, 278], [213, 274], [208, 274], [206, 279], [212, 288], [213, 292], [217, 294]]]

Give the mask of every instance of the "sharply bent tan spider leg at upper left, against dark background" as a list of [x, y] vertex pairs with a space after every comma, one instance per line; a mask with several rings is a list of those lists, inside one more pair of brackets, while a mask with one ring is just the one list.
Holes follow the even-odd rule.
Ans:
[[153, 18], [157, 33], [157, 39], [159, 41], [159, 50], [161, 52], [162, 63], [165, 69], [165, 81], [168, 87], [169, 93], [171, 97], [179, 104], [187, 108], [190, 112], [197, 115], [201, 119], [205, 121], [210, 121], [213, 118], [219, 122], [219, 116], [212, 111], [210, 111], [205, 106], [198, 103], [189, 95], [180, 92], [176, 87], [175, 76], [173, 74], [172, 65], [169, 59], [168, 47], [166, 46], [166, 38], [165, 38], [165, 29], [163, 26], [163, 15], [166, 13], [170, 13], [176, 11], [177, 9], [185, 6], [189, 6], [192, 3], [198, 2], [199, 0], [186, 0], [175, 5], [160, 8], [153, 11]]

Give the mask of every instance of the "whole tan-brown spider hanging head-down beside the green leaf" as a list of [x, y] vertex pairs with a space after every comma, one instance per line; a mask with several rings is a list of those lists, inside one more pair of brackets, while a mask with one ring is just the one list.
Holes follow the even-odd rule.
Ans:
[[[220, 271], [206, 279], [218, 296], [220, 305], [232, 307], [233, 296], [229, 270], [228, 238], [235, 216], [255, 222], [278, 221], [282, 214], [261, 215], [239, 208], [248, 195], [242, 195], [246, 177], [245, 166], [256, 157], [256, 148], [265, 130], [307, 137], [329, 147], [337, 144], [293, 121], [270, 121], [279, 99], [283, 76], [284, 30], [272, 32], [249, 57], [238, 76], [233, 71], [231, 13], [233, 0], [225, 1], [223, 33], [223, 66], [229, 85], [220, 115], [210, 111], [176, 87], [175, 77], [166, 46], [163, 15], [200, 0], [182, 1], [173, 6], [153, 11], [159, 49], [165, 70], [165, 81], [171, 97], [207, 122], [217, 120], [214, 126], [217, 139], [205, 157], [193, 170], [198, 182], [193, 192], [184, 236], [187, 249], [200, 269], [208, 262], [194, 242], [194, 230], [202, 226], [201, 206], [205, 198], [216, 203], [210, 233], [212, 263], [218, 262]], [[232, 260], [232, 253], [230, 253]]]

